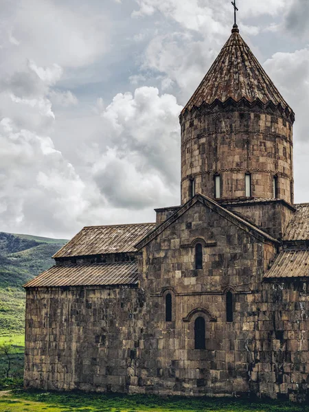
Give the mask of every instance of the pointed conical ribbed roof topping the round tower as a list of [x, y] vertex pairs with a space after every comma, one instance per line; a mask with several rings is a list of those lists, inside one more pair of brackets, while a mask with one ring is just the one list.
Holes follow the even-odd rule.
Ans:
[[220, 100], [225, 103], [229, 98], [235, 102], [243, 98], [251, 103], [256, 100], [264, 104], [272, 102], [293, 113], [235, 27], [183, 112], [203, 102], [212, 104]]

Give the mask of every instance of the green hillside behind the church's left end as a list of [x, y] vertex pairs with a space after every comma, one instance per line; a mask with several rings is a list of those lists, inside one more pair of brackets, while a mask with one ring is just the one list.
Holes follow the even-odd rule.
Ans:
[[54, 264], [67, 240], [0, 232], [0, 336], [24, 330], [23, 284]]

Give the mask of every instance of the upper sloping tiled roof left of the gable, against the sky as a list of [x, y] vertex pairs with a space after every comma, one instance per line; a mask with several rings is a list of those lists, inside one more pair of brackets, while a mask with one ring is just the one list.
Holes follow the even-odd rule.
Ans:
[[155, 227], [155, 223], [84, 227], [53, 258], [136, 252], [134, 245]]

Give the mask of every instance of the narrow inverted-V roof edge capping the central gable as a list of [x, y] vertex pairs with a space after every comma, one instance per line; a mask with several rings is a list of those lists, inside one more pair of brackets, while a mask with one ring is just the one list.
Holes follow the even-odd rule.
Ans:
[[240, 218], [240, 216], [233, 214], [233, 212], [218, 205], [218, 203], [213, 201], [211, 198], [207, 198], [203, 194], [198, 193], [192, 199], [190, 199], [190, 201], [185, 203], [185, 205], [183, 205], [181, 209], [176, 211], [176, 213], [173, 214], [168, 220], [165, 220], [165, 222], [163, 222], [159, 227], [148, 233], [148, 235], [146, 235], [144, 239], [141, 239], [137, 244], [135, 244], [135, 247], [139, 250], [142, 247], [146, 246], [146, 244], [151, 242], [153, 239], [157, 238], [157, 236], [159, 236], [160, 233], [165, 231], [165, 229], [172, 225], [172, 223], [179, 219], [187, 210], [189, 210], [197, 202], [201, 202], [206, 207], [209, 207], [211, 210], [216, 211], [216, 213], [220, 214], [223, 218], [233, 222], [235, 225], [238, 225], [238, 227], [247, 231], [251, 236], [258, 238], [262, 242], [268, 241], [273, 242], [275, 244], [279, 244], [278, 240], [268, 235], [268, 233], [265, 233], [258, 227], [249, 223], [244, 218]]

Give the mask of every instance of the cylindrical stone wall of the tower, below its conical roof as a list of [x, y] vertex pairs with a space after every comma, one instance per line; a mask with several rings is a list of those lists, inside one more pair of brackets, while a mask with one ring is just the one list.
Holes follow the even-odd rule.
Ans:
[[279, 111], [259, 106], [201, 108], [181, 116], [181, 203], [196, 192], [214, 198], [220, 174], [221, 198], [245, 196], [244, 176], [251, 174], [251, 196], [293, 203], [293, 128]]

